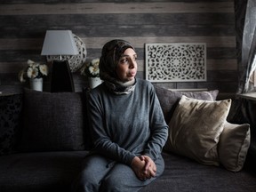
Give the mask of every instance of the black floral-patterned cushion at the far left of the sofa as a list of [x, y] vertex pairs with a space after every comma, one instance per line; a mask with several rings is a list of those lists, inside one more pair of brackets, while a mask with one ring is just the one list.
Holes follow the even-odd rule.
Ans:
[[0, 96], [0, 156], [14, 152], [20, 128], [22, 95]]

